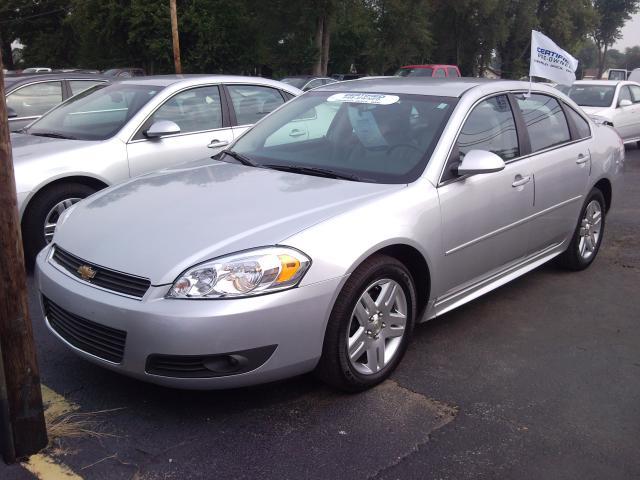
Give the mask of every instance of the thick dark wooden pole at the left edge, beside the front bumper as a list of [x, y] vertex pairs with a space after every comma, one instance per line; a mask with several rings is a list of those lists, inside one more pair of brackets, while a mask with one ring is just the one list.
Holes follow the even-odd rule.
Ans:
[[11, 160], [0, 52], [0, 450], [14, 463], [47, 446]]

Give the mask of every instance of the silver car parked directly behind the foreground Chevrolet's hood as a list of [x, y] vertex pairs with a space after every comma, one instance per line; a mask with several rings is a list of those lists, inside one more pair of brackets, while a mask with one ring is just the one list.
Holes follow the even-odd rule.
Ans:
[[273, 80], [221, 75], [142, 77], [97, 88], [11, 136], [28, 261], [75, 202], [211, 156], [301, 93]]

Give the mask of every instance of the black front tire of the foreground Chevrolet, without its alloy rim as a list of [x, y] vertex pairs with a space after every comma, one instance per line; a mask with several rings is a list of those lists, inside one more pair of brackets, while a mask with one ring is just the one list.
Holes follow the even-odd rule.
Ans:
[[[363, 375], [351, 365], [347, 353], [347, 328], [356, 302], [376, 280], [389, 278], [403, 289], [407, 300], [405, 333], [393, 359], [379, 372]], [[385, 380], [402, 360], [416, 315], [416, 289], [407, 268], [393, 257], [375, 255], [362, 263], [342, 288], [327, 324], [322, 357], [316, 375], [329, 385], [347, 392], [360, 392]]]

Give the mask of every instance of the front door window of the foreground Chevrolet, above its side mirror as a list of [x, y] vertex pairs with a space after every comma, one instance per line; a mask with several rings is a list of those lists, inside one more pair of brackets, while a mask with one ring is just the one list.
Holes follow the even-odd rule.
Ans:
[[519, 156], [518, 134], [507, 96], [479, 103], [464, 123], [456, 146], [460, 160], [470, 150], [487, 150], [505, 161]]

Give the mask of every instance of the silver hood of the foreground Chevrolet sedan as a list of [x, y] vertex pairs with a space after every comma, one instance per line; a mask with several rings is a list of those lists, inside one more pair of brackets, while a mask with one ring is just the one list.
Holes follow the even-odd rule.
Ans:
[[199, 262], [278, 244], [403, 187], [207, 159], [98, 192], [63, 218], [54, 242], [89, 262], [162, 285]]

